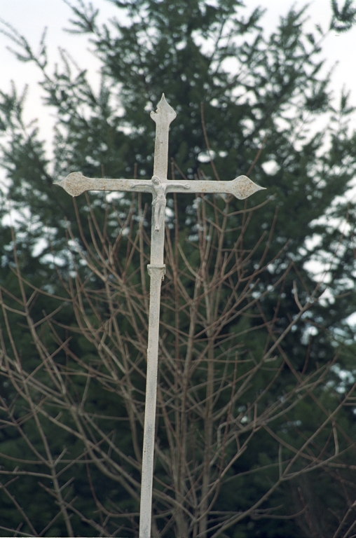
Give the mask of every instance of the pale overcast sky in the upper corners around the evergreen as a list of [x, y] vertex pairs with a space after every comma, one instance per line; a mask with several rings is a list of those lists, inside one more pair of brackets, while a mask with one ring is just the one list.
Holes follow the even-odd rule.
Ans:
[[[118, 9], [108, 0], [92, 0], [94, 6], [100, 8], [100, 20], [104, 21], [113, 15], [117, 15]], [[172, 0], [174, 1], [174, 0]], [[339, 5], [344, 0], [338, 0]], [[75, 3], [75, 0], [72, 0]], [[266, 32], [272, 32], [278, 24], [280, 15], [285, 15], [292, 4], [303, 6], [304, 1], [292, 2], [289, 0], [245, 0], [247, 8], [256, 6], [266, 8], [263, 16], [263, 27]], [[311, 0], [309, 2], [308, 15], [310, 25], [320, 24], [323, 29], [329, 27], [331, 8], [329, 0]], [[85, 36], [72, 36], [63, 32], [68, 27], [71, 17], [70, 8], [63, 0], [0, 0], [0, 18], [10, 23], [15, 29], [24, 34], [29, 43], [36, 49], [44, 27], [48, 27], [48, 50], [50, 62], [58, 60], [57, 48], [61, 46], [69, 50], [74, 59], [81, 67], [88, 68], [90, 81], [95, 85], [98, 80], [97, 71], [99, 62], [90, 54], [88, 40]], [[41, 106], [40, 90], [36, 84], [41, 79], [41, 74], [36, 67], [23, 64], [14, 59], [6, 46], [9, 40], [0, 34], [0, 89], [8, 90], [10, 81], [15, 81], [19, 89], [29, 84], [27, 97], [26, 118], [27, 120], [39, 118], [41, 135], [48, 140], [50, 152], [50, 137], [54, 123], [51, 116], [53, 111]], [[356, 105], [356, 27], [350, 32], [336, 34], [330, 32], [323, 45], [323, 56], [327, 60], [327, 69], [338, 62], [334, 72], [332, 88], [334, 95], [338, 96], [343, 85], [351, 90], [352, 104]], [[356, 127], [356, 116], [355, 116]]]

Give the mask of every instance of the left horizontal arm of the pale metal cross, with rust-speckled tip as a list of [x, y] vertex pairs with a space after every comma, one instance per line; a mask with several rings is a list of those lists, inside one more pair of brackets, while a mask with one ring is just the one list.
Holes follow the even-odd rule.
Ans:
[[139, 179], [99, 179], [85, 177], [81, 172], [71, 172], [69, 176], [56, 181], [71, 196], [78, 196], [85, 191], [139, 191], [151, 193], [153, 188], [151, 181]]

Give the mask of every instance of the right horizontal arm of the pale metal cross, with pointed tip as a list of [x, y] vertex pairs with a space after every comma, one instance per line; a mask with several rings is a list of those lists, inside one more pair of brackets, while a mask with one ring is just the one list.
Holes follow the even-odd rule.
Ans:
[[[181, 183], [182, 188], [179, 187]], [[167, 192], [186, 192], [186, 189], [189, 193], [233, 194], [238, 200], [245, 200], [256, 191], [265, 190], [264, 187], [256, 185], [247, 176], [239, 176], [232, 181], [174, 181], [174, 185], [170, 185], [170, 181], [167, 181]]]

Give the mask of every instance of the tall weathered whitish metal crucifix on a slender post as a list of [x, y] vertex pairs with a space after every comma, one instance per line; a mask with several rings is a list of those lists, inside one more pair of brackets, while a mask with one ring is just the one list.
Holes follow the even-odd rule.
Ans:
[[160, 315], [160, 287], [165, 275], [163, 249], [165, 241], [165, 205], [167, 193], [229, 193], [244, 200], [263, 187], [246, 176], [233, 181], [172, 181], [167, 179], [168, 133], [170, 123], [177, 114], [165, 95], [162, 95], [157, 111], [151, 112], [156, 123], [156, 142], [153, 176], [148, 181], [140, 179], [90, 179], [81, 172], [72, 172], [60, 185], [72, 196], [84, 191], [130, 191], [153, 195], [151, 226], [151, 259], [147, 269], [151, 277], [149, 289], [149, 336], [147, 346], [146, 401], [144, 411], [144, 447], [142, 451], [141, 502], [139, 512], [139, 538], [151, 537], [153, 450], [156, 421], [156, 392], [158, 370], [158, 329]]

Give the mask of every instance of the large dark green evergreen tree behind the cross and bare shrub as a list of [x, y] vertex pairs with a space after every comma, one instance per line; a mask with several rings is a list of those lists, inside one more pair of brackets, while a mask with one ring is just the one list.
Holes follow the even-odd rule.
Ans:
[[[65, 277], [73, 269], [73, 259], [78, 261], [76, 248], [73, 247], [70, 255], [67, 250], [67, 223], [71, 224], [74, 235], [81, 237], [78, 239], [80, 247], [86, 251], [91, 241], [90, 226], [84, 219], [88, 205], [84, 197], [76, 200], [78, 214], [83, 217], [80, 233], [76, 212], [68, 195], [53, 186], [53, 180], [77, 170], [88, 177], [133, 177], [138, 174], [149, 178], [154, 143], [154, 125], [149, 111], [155, 109], [164, 91], [178, 113], [170, 129], [172, 170], [177, 177], [182, 171], [189, 179], [198, 176], [212, 179], [210, 157], [213, 156], [214, 167], [221, 179], [249, 174], [257, 184], [268, 189], [268, 205], [252, 213], [244, 237], [249, 248], [258, 245], [249, 259], [251, 268], [258, 267], [267, 243], [268, 256], [273, 259], [268, 269], [259, 275], [254, 289], [255, 297], [260, 295], [261, 298], [250, 310], [250, 326], [259, 317], [259, 309], [263, 310], [266, 321], [273, 319], [273, 309], [280, 301], [274, 331], [283, 333], [290, 320], [299, 313], [296, 293], [304, 304], [310, 290], [315, 287], [308, 263], [317, 260], [329, 264], [327, 280], [320, 284], [319, 289], [325, 289], [324, 300], [310, 308], [303, 315], [303, 323], [295, 325], [294, 330], [287, 334], [282, 352], [292, 357], [297, 373], [308, 374], [316, 365], [322, 368], [327, 364], [337, 349], [336, 366], [328, 378], [328, 386], [334, 387], [334, 392], [326, 396], [320, 390], [322, 405], [332, 407], [334, 403], [330, 401], [333, 398], [335, 401], [343, 390], [346, 392], [353, 381], [352, 376], [343, 380], [344, 369], [355, 369], [352, 365], [355, 333], [346, 322], [355, 310], [355, 256], [352, 249], [355, 205], [346, 201], [345, 195], [355, 174], [356, 135], [350, 133], [348, 127], [348, 119], [354, 112], [348, 103], [348, 95], [341, 95], [338, 109], [333, 109], [329, 76], [320, 74], [324, 34], [320, 29], [316, 29], [314, 34], [305, 33], [306, 8], [292, 8], [267, 40], [260, 27], [261, 9], [247, 13], [242, 2], [236, 0], [219, 0], [214, 5], [198, 0], [174, 3], [166, 0], [115, 0], [114, 4], [118, 7], [118, 18], [102, 26], [97, 24], [97, 11], [90, 4], [78, 1], [71, 6], [74, 12], [71, 31], [88, 34], [97, 56], [102, 60], [102, 85], [98, 95], [90, 88], [85, 71], [76, 71], [65, 53], [62, 66], [50, 73], [45, 43], [41, 53], [35, 55], [22, 36], [8, 29], [11, 39], [20, 47], [18, 59], [36, 62], [41, 69], [46, 104], [57, 111], [52, 175], [40, 133], [33, 125], [25, 126], [23, 123], [24, 98], [19, 97], [15, 89], [9, 94], [1, 92], [0, 127], [5, 135], [2, 165], [7, 170], [8, 198], [12, 207], [24, 216], [17, 226], [17, 254], [22, 273], [33, 285], [65, 296], [50, 253], [54, 251], [61, 264], [60, 275]], [[343, 8], [339, 8], [336, 1], [332, 1], [331, 7], [330, 28], [341, 32], [351, 27], [355, 18], [351, 2], [346, 0]], [[122, 22], [123, 14], [125, 22]], [[327, 123], [322, 130], [315, 127], [319, 118], [324, 118]], [[95, 195], [93, 199], [93, 216], [99, 228], [106, 226], [108, 237], [113, 237], [118, 228], [116, 209], [109, 210], [108, 216], [102, 195]], [[245, 207], [252, 208], [265, 199], [266, 193], [258, 193], [253, 200], [248, 200]], [[143, 202], [149, 202], [149, 199], [143, 197]], [[119, 227], [124, 228], [131, 201], [123, 197], [115, 203], [122, 220]], [[199, 228], [196, 207], [189, 195], [180, 195], [177, 203], [179, 228], [190, 237], [190, 243], [184, 244], [184, 251], [190, 263], [194, 264], [194, 242], [198, 242]], [[170, 207], [173, 208], [173, 203]], [[231, 232], [226, 233], [227, 247], [233, 245], [234, 230], [241, 226], [240, 215], [237, 214], [242, 208], [240, 202], [231, 201], [231, 207], [231, 212], [236, 215], [229, 217]], [[149, 210], [145, 221], [148, 227]], [[8, 205], [4, 200], [1, 216], [7, 211]], [[168, 214], [167, 219], [168, 225], [174, 226], [173, 216]], [[266, 233], [259, 242], [261, 230], [271, 228], [273, 235]], [[33, 247], [43, 238], [45, 229], [48, 246], [40, 255], [34, 256]], [[2, 258], [1, 287], [18, 296], [17, 280], [11, 272], [14, 265], [13, 242], [6, 226], [3, 226], [2, 237], [6, 254]], [[287, 249], [283, 250], [285, 244]], [[289, 265], [293, 266], [293, 270], [283, 279], [281, 290], [276, 283]], [[303, 282], [302, 289], [294, 287], [295, 275]], [[43, 282], [46, 282], [45, 288]], [[93, 287], [96, 285], [97, 282], [94, 282]], [[42, 298], [34, 306], [35, 319], [41, 315], [43, 308], [49, 310], [48, 304], [43, 301]], [[67, 322], [64, 322], [64, 317]], [[69, 308], [61, 310], [59, 322], [76, 323]], [[247, 323], [245, 319], [242, 322]], [[226, 331], [240, 331], [242, 322], [232, 321]], [[34, 360], [26, 338], [28, 336], [19, 326], [18, 340], [23, 339], [21, 347], [27, 350], [25, 357], [27, 361]], [[264, 340], [246, 337], [245, 345], [258, 353]], [[83, 357], [93, 352], [91, 348], [85, 349], [83, 340], [78, 339], [75, 346], [76, 353]], [[273, 387], [273, 397], [282, 397], [285, 387], [291, 385], [293, 379], [292, 370], [286, 368]], [[251, 387], [252, 398], [264, 381], [260, 378], [256, 386]], [[92, 397], [94, 401], [93, 394]], [[242, 407], [248, 407], [249, 397], [249, 394], [245, 395]], [[100, 403], [109, 414], [110, 398], [111, 394], [102, 396]], [[329, 403], [325, 403], [323, 398], [326, 401], [329, 398]], [[291, 412], [289, 421], [294, 425], [301, 422], [299, 428], [305, 433], [312, 430], [317, 421], [322, 420], [320, 408], [315, 409], [314, 405], [313, 401], [308, 401], [302, 409], [297, 408], [294, 414]], [[343, 431], [348, 436], [352, 436], [353, 422], [352, 412], [345, 412]], [[46, 427], [50, 432], [50, 425]], [[285, 435], [286, 442], [294, 442], [294, 433], [283, 428], [285, 418], [280, 422], [280, 429], [284, 432], [281, 435]], [[18, 439], [15, 441], [20, 442]], [[10, 452], [13, 440], [3, 439], [2, 442], [7, 443], [5, 452]], [[131, 454], [130, 432], [126, 432], [120, 442], [121, 450]], [[75, 447], [74, 439], [70, 438], [68, 443]], [[252, 443], [248, 453], [233, 466], [231, 476], [243, 468], [251, 469], [256, 462], [275, 462], [273, 450], [267, 436], [262, 437], [259, 443]], [[164, 467], [159, 471], [164, 482], [167, 479]], [[316, 471], [313, 472], [315, 474]], [[93, 480], [99, 483], [100, 473], [95, 473]], [[269, 479], [268, 473], [259, 475], [255, 481], [239, 479], [237, 488], [232, 478], [231, 488], [221, 490], [214, 510], [233, 510], [235, 506], [254, 504]], [[327, 473], [324, 480], [324, 483], [330, 483]], [[79, 489], [84, 488], [82, 476], [77, 482]], [[34, 487], [34, 482], [27, 483], [28, 491]], [[296, 502], [294, 497], [298, 487], [304, 494], [302, 491]], [[340, 496], [333, 494], [324, 499], [322, 490], [317, 485], [314, 487], [315, 495], [324, 506], [341, 503]], [[281, 486], [268, 501], [268, 508], [283, 505], [282, 514], [289, 516], [296, 512], [295, 506], [301, 502], [302, 510], [300, 499], [306, 497], [306, 489], [306, 483], [293, 486], [292, 492], [287, 486]], [[87, 495], [88, 491], [83, 492], [83, 506]], [[137, 504], [126, 501], [123, 491], [117, 492], [114, 485], [111, 495], [121, 497], [123, 509], [126, 505], [130, 511], [137, 509]], [[43, 499], [43, 502], [46, 500]], [[318, 527], [322, 523], [317, 516], [315, 518], [314, 530], [317, 528], [317, 532], [328, 535], [327, 527], [324, 530]], [[300, 535], [295, 523], [276, 521], [246, 520], [227, 527], [224, 535]], [[313, 534], [313, 529], [307, 528], [304, 532], [308, 536], [308, 532]]]

